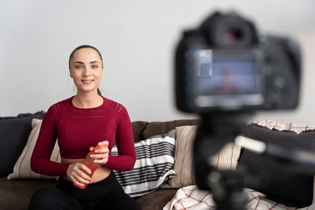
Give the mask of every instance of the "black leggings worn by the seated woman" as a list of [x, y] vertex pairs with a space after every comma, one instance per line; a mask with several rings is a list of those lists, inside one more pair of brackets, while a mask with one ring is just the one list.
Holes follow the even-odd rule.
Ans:
[[77, 188], [72, 182], [59, 178], [56, 188], [37, 190], [29, 210], [141, 210], [140, 205], [118, 183], [114, 172], [102, 181]]

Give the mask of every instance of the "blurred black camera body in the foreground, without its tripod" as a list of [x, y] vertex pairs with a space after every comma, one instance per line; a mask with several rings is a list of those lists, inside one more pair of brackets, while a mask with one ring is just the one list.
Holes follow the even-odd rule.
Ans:
[[258, 35], [252, 22], [235, 13], [214, 13], [178, 43], [176, 105], [201, 114], [293, 109], [300, 75], [295, 41]]

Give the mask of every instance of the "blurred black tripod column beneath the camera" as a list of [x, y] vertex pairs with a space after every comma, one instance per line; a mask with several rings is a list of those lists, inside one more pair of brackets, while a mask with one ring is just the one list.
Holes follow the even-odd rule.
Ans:
[[245, 210], [244, 176], [237, 171], [218, 171], [208, 159], [247, 127], [248, 115], [211, 114], [202, 116], [194, 142], [194, 164], [198, 188], [210, 190], [217, 210]]

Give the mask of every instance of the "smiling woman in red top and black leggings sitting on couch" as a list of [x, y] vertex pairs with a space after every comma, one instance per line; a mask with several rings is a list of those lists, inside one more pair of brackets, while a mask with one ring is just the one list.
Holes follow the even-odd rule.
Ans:
[[[90, 45], [75, 48], [69, 71], [77, 93], [48, 109], [31, 159], [34, 172], [60, 178], [56, 188], [35, 192], [29, 209], [141, 209], [124, 193], [112, 171], [131, 170], [136, 155], [127, 110], [101, 96], [98, 89], [103, 76], [101, 53]], [[49, 160], [56, 138], [61, 163]], [[115, 141], [119, 155], [111, 156]], [[91, 156], [100, 166], [90, 178], [83, 162], [97, 144], [107, 148]], [[88, 185], [80, 189], [73, 183]]]

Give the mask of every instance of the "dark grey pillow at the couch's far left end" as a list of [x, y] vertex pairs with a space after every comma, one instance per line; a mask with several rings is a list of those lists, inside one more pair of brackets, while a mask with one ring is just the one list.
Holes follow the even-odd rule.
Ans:
[[43, 119], [45, 112], [0, 120], [0, 177], [8, 176], [19, 159], [32, 131], [32, 119]]

